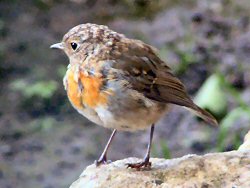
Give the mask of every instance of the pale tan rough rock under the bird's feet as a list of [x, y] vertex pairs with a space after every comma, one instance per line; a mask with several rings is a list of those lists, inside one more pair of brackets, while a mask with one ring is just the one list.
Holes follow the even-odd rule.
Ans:
[[90, 165], [70, 188], [250, 187], [250, 151], [151, 158], [151, 170], [127, 168], [127, 163], [138, 161], [127, 158], [99, 167]]

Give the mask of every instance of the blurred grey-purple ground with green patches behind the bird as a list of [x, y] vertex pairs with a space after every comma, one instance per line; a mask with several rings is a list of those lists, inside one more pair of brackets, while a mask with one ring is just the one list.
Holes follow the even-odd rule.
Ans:
[[[0, 187], [68, 187], [101, 154], [110, 130], [71, 107], [68, 59], [49, 49], [87, 22], [157, 47], [220, 123], [174, 106], [156, 127], [154, 157], [237, 149], [250, 128], [249, 19], [248, 0], [1, 0]], [[118, 133], [109, 158], [143, 157], [148, 136]]]

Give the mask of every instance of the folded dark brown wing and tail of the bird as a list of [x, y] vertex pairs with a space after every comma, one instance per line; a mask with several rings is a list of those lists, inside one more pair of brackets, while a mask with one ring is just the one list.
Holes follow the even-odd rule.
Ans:
[[128, 39], [125, 42], [127, 51], [119, 57], [116, 68], [127, 72], [133, 89], [158, 102], [185, 106], [209, 124], [217, 125], [210, 113], [194, 104], [181, 81], [156, 55], [156, 50], [141, 41]]

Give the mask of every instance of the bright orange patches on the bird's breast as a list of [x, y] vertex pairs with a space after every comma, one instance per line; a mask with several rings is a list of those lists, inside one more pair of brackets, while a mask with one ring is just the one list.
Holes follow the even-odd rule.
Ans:
[[79, 74], [79, 82], [81, 82], [83, 89], [79, 89], [78, 82], [74, 80], [74, 73], [68, 70], [67, 73], [67, 93], [71, 103], [81, 109], [83, 105], [88, 107], [96, 107], [98, 105], [106, 105], [108, 93], [101, 91], [102, 79], [93, 76], [85, 76]]

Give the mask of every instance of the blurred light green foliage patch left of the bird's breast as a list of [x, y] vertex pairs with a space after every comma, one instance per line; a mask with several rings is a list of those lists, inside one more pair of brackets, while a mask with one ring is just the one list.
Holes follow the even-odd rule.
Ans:
[[53, 80], [39, 81], [33, 84], [29, 84], [25, 80], [15, 80], [11, 83], [10, 88], [13, 91], [20, 92], [25, 98], [38, 96], [48, 99], [55, 93], [58, 88], [58, 84]]

